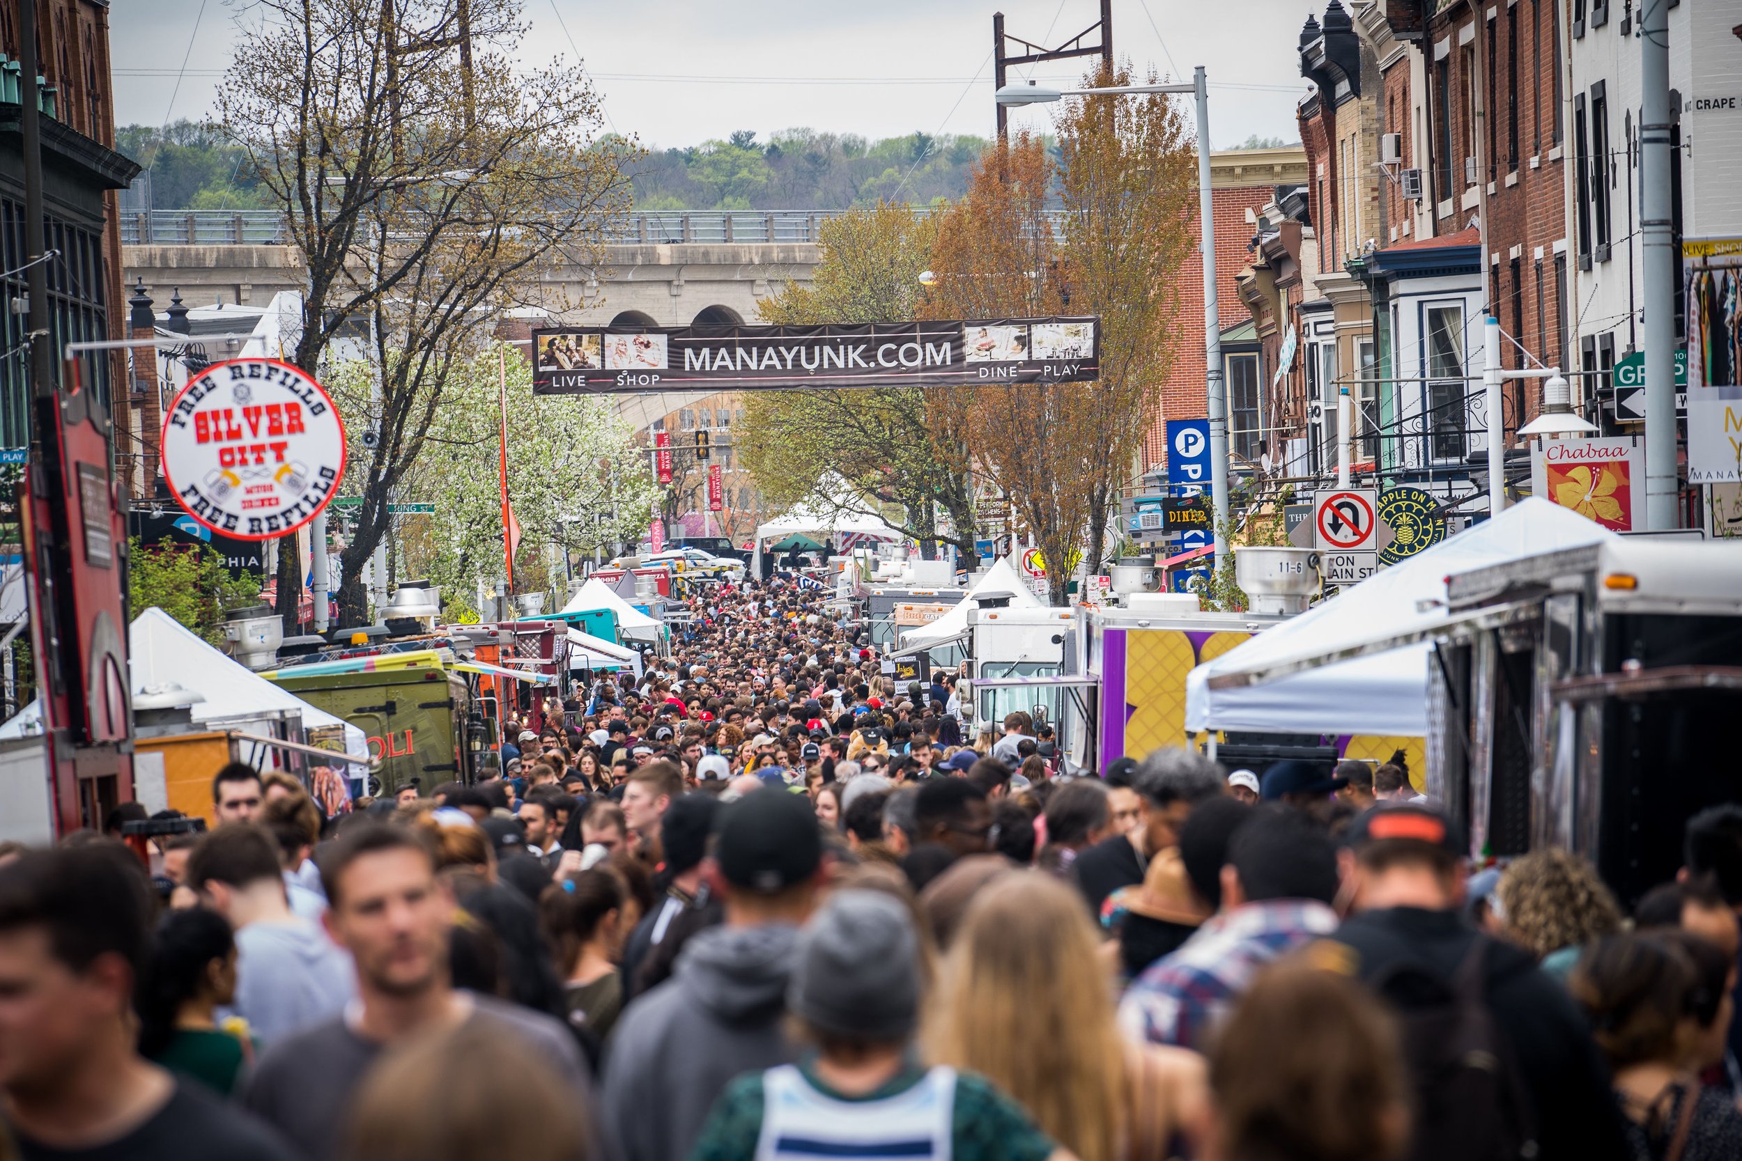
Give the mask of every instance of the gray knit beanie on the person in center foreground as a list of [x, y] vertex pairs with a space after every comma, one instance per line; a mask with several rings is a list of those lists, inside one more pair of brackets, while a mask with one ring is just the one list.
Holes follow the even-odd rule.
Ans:
[[798, 933], [787, 1008], [834, 1036], [901, 1041], [920, 1018], [913, 917], [881, 891], [836, 891]]

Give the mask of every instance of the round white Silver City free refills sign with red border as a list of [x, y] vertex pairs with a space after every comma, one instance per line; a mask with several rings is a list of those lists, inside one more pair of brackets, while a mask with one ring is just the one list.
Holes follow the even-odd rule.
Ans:
[[345, 477], [333, 399], [277, 359], [232, 359], [192, 379], [164, 419], [164, 480], [188, 515], [237, 540], [277, 540], [327, 507]]

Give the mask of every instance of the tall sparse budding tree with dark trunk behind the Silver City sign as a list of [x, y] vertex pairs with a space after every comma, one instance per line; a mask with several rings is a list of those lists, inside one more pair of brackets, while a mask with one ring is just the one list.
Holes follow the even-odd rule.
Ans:
[[603, 134], [578, 64], [516, 66], [528, 33], [521, 0], [254, 0], [218, 89], [307, 263], [286, 362], [319, 378], [343, 334], [373, 348], [378, 392], [345, 411], [376, 433], [348, 470], [347, 625], [449, 374], [550, 265], [599, 261], [629, 207], [636, 146]]

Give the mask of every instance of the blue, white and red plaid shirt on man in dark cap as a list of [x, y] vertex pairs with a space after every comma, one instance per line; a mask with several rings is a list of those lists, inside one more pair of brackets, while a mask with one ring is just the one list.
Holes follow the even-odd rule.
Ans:
[[1214, 916], [1132, 980], [1118, 1004], [1120, 1027], [1153, 1044], [1202, 1050], [1211, 1023], [1259, 968], [1334, 929], [1336, 912], [1317, 900], [1268, 900]]

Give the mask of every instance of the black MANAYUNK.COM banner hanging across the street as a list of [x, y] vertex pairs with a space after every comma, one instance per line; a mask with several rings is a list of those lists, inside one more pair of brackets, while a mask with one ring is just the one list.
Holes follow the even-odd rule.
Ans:
[[1099, 343], [1094, 317], [822, 327], [563, 327], [533, 331], [533, 392], [1080, 383], [1101, 374]]

